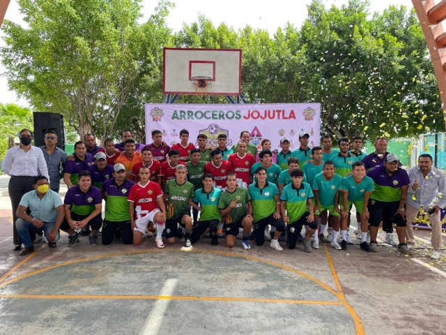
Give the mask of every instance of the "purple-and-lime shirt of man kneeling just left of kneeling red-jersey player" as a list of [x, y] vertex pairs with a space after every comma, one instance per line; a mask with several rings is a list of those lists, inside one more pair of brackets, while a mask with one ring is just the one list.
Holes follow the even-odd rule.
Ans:
[[104, 181], [102, 191], [107, 193], [105, 202], [105, 220], [112, 222], [130, 221], [128, 209], [128, 195], [134, 182], [124, 179], [123, 184], [117, 185], [114, 178]]

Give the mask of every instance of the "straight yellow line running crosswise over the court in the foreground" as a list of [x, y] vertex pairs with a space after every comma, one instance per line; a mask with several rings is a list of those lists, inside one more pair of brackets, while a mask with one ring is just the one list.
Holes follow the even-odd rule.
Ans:
[[309, 304], [344, 306], [341, 301], [309, 301], [289, 299], [258, 299], [234, 297], [187, 297], [169, 295], [0, 295], [0, 298], [20, 299], [116, 299], [116, 300], [192, 300], [192, 301], [230, 301], [230, 302], [266, 302], [275, 304]]

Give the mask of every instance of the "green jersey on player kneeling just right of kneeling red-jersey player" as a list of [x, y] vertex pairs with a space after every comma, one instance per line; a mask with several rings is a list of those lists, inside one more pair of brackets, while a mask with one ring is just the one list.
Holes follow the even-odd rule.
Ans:
[[189, 181], [178, 185], [176, 179], [171, 179], [166, 183], [166, 193], [169, 195], [167, 218], [178, 218], [178, 216], [187, 214], [189, 198], [194, 198], [194, 186]]

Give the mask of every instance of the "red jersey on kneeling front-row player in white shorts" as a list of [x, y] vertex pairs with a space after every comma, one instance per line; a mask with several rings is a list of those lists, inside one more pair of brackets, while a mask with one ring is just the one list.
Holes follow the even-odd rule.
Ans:
[[160, 185], [149, 181], [146, 186], [134, 184], [128, 193], [128, 201], [134, 202], [134, 219], [142, 218], [158, 208], [157, 198], [162, 196]]

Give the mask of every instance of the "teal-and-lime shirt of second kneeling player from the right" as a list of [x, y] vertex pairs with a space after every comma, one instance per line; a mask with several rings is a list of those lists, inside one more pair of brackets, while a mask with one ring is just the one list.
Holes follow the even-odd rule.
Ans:
[[266, 218], [276, 211], [275, 195], [279, 194], [279, 188], [275, 184], [268, 183], [263, 188], [259, 184], [251, 184], [248, 188], [252, 198], [252, 216], [254, 222]]

